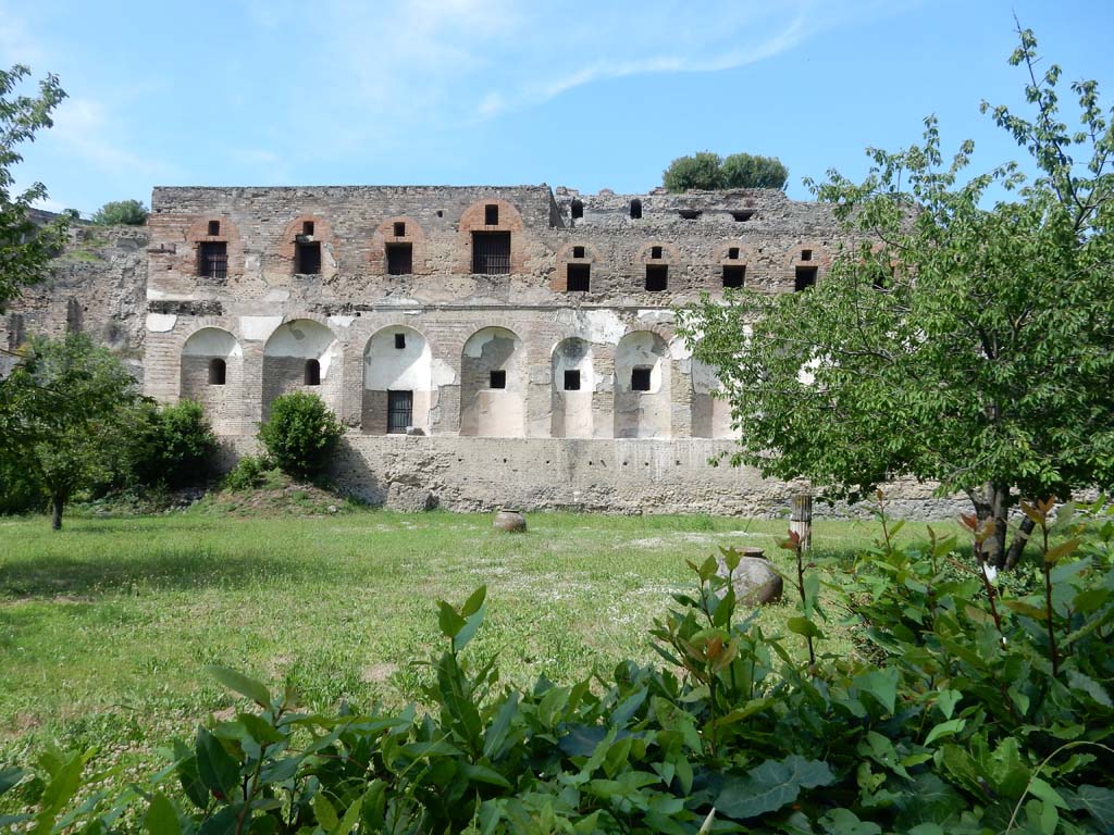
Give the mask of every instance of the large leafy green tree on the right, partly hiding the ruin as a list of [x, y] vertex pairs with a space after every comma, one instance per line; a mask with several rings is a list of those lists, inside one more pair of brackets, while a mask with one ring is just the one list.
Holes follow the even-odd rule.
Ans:
[[[1035, 179], [1010, 163], [960, 183], [971, 144], [945, 163], [928, 119], [924, 145], [870, 150], [862, 183], [813, 186], [860, 238], [819, 286], [683, 314], [743, 431], [734, 463], [852, 500], [893, 477], [937, 481], [970, 498], [999, 567], [1032, 531], [1023, 519], [1007, 550], [1020, 499], [1114, 483], [1114, 131], [1094, 81], [1072, 86], [1078, 128], [1061, 122], [1061, 70], [1038, 75], [1018, 35], [1010, 62], [1036, 114], [983, 108]], [[984, 208], [995, 184], [1007, 198]]]

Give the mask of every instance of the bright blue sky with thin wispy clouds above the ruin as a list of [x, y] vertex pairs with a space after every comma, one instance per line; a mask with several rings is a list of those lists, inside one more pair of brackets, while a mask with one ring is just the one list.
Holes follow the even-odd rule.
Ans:
[[155, 185], [644, 191], [705, 149], [778, 156], [805, 198], [929, 114], [977, 168], [1019, 157], [978, 110], [1024, 105], [1015, 12], [1114, 101], [1107, 0], [0, 0], [0, 63], [69, 94], [17, 170], [49, 208]]

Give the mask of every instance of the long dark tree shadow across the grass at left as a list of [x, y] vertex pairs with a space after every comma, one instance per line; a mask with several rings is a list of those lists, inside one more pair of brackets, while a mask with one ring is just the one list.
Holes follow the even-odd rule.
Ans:
[[0, 605], [12, 599], [271, 586], [305, 572], [293, 560], [262, 552], [228, 554], [206, 548], [163, 548], [115, 559], [45, 554], [0, 563]]

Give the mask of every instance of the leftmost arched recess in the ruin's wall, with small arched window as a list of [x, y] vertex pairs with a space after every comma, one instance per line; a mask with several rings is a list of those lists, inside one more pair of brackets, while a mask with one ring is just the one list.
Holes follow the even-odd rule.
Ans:
[[202, 404], [218, 434], [234, 431], [243, 404], [244, 352], [222, 327], [195, 331], [182, 346], [179, 400]]

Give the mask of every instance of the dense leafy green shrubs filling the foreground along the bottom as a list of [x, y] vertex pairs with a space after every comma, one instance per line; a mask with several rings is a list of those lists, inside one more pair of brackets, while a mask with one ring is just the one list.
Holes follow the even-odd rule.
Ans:
[[[836, 608], [809, 599], [819, 583], [802, 586], [786, 633], [737, 611], [709, 558], [652, 631], [664, 666], [506, 687], [499, 654], [470, 649], [488, 615], [480, 588], [438, 605], [428, 714], [306, 711], [290, 688], [216, 666], [245, 699], [237, 713], [175, 743], [172, 768], [123, 797], [75, 808], [90, 752], [48, 753], [38, 777], [9, 769], [6, 783], [39, 804], [27, 819], [43, 832], [68, 811], [102, 833], [121, 821], [166, 833], [1110, 831], [1114, 518], [1026, 512], [1043, 588], [1023, 599], [957, 559], [980, 552], [988, 524], [970, 521], [971, 546], [931, 529], [907, 546], [882, 519], [877, 546], [823, 579], [858, 652], [828, 646]], [[814, 659], [791, 651], [801, 637]]]

